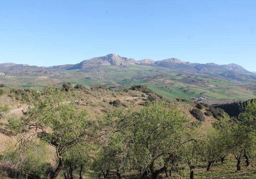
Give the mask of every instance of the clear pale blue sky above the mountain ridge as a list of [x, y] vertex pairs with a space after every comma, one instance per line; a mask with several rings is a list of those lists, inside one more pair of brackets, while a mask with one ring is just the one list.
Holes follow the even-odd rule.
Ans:
[[237, 63], [256, 71], [256, 0], [1, 0], [0, 63]]

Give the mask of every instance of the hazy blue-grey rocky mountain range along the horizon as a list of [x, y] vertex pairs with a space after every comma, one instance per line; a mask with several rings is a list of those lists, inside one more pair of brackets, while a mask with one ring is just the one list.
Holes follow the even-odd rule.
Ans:
[[104, 66], [152, 66], [154, 68], [169, 68], [174, 72], [181, 74], [206, 74], [219, 76], [223, 78], [230, 78], [236, 80], [243, 79], [256, 79], [256, 74], [249, 72], [242, 66], [237, 64], [218, 65], [215, 63], [190, 63], [184, 62], [180, 59], [169, 58], [161, 61], [153, 61], [152, 59], [142, 59], [136, 61], [132, 58], [121, 57], [116, 54], [108, 54], [102, 57], [94, 57], [92, 59], [84, 60], [74, 65], [58, 65], [49, 67], [39, 67], [30, 65], [21, 65], [15, 63], [2, 63], [0, 64], [0, 72], [2, 74], [11, 76], [37, 76], [37, 75], [52, 75], [54, 72], [61, 70], [80, 70], [86, 71], [99, 71], [99, 68]]

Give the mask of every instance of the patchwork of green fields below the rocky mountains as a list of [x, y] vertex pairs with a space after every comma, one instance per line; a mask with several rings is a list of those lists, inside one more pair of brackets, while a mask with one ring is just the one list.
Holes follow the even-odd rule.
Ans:
[[133, 65], [103, 66], [90, 72], [80, 70], [63, 70], [56, 76], [1, 76], [0, 83], [9, 87], [40, 90], [49, 84], [62, 85], [65, 82], [82, 84], [87, 87], [104, 85], [106, 87], [146, 85], [157, 94], [167, 98], [207, 97], [208, 100], [251, 99], [256, 98], [256, 83], [243, 83], [213, 78], [211, 76], [191, 76], [178, 74], [168, 68], [155, 69], [152, 66]]

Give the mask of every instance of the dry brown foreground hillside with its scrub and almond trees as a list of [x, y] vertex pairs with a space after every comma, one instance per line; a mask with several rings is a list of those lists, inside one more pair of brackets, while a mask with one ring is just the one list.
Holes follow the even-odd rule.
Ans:
[[[249, 156], [254, 157], [254, 138], [250, 132], [240, 136], [243, 140], [233, 135], [238, 125], [247, 126], [246, 133], [251, 129], [241, 119], [254, 115], [246, 112], [253, 109], [253, 100], [250, 108], [245, 104], [246, 113], [230, 118], [216, 106], [181, 98], [169, 101], [143, 85], [119, 91], [71, 83], [40, 92], [2, 89], [1, 177], [253, 175], [254, 158]], [[230, 138], [241, 143], [230, 148]], [[233, 168], [242, 155], [250, 167]]]

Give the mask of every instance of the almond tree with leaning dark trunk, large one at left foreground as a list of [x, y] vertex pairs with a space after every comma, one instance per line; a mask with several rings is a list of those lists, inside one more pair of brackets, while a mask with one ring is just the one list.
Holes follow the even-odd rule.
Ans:
[[74, 146], [88, 145], [98, 137], [95, 120], [89, 120], [85, 111], [77, 109], [69, 93], [53, 87], [46, 89], [44, 96], [28, 94], [22, 100], [30, 104], [30, 108], [21, 118], [20, 147], [39, 139], [55, 148], [58, 166], [48, 175], [54, 179], [63, 168], [64, 153]]

